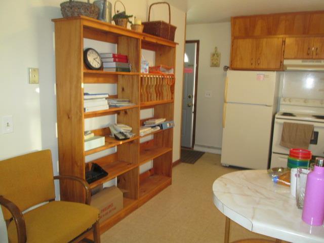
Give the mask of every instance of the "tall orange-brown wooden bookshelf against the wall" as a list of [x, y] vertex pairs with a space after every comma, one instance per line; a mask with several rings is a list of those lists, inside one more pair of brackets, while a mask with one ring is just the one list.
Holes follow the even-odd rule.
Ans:
[[[84, 16], [52, 21], [55, 23], [59, 174], [85, 179], [91, 163], [97, 163], [108, 172], [108, 176], [91, 183], [91, 188], [116, 178], [117, 187], [126, 191], [124, 208], [100, 223], [101, 232], [104, 232], [171, 185], [173, 129], [154, 132], [150, 135], [151, 140], [141, 143], [139, 128], [143, 122], [140, 117], [142, 109], [152, 109], [154, 118], [173, 120], [175, 75], [158, 79], [154, 74], [157, 86], [150, 92], [155, 92], [153, 97], [156, 99], [143, 101], [141, 92], [146, 88], [142, 87], [140, 71], [142, 49], [155, 52], [155, 65], [172, 66], [175, 70], [177, 43]], [[128, 56], [132, 72], [87, 69], [83, 61], [84, 38], [115, 44], [118, 54]], [[145, 77], [151, 78], [153, 74], [145, 74]], [[167, 79], [169, 83], [162, 83], [161, 80]], [[135, 105], [84, 112], [84, 84], [116, 84], [117, 94], [111, 96], [128, 98]], [[165, 86], [168, 86], [170, 95], [162, 94], [166, 92]], [[85, 152], [85, 119], [104, 115], [115, 115], [117, 123], [131, 126], [135, 138], [118, 141], [109, 137], [108, 127], [98, 128], [93, 132], [105, 136], [105, 145]], [[112, 147], [116, 152], [86, 163], [87, 155]], [[140, 166], [149, 161], [152, 161], [152, 168], [140, 174]], [[70, 181], [60, 182], [60, 195], [61, 199], [68, 201], [83, 202], [85, 199], [84, 189]]]

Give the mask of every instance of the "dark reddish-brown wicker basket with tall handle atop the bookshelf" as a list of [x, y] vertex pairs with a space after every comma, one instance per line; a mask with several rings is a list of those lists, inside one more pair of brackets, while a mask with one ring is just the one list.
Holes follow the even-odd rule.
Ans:
[[[169, 7], [169, 23], [166, 23], [164, 21], [151, 21], [150, 22], [150, 13], [151, 13], [151, 7], [155, 4], [167, 4]], [[176, 26], [171, 25], [171, 11], [170, 11], [170, 5], [167, 2], [160, 2], [160, 3], [154, 3], [150, 5], [150, 8], [148, 10], [148, 22], [142, 23], [144, 25], [144, 33], [152, 34], [158, 37], [162, 37], [165, 39], [169, 39], [170, 41], [174, 41], [174, 35], [176, 33]]]

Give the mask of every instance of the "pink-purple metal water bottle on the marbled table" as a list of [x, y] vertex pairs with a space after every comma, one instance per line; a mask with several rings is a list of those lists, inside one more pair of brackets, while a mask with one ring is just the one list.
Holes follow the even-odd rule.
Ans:
[[314, 170], [307, 175], [302, 219], [319, 226], [324, 221], [324, 158], [316, 157]]

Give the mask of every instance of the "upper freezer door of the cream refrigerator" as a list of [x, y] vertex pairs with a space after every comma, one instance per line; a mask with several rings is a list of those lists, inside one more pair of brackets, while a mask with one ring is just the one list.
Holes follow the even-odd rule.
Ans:
[[276, 72], [227, 71], [225, 102], [272, 106]]

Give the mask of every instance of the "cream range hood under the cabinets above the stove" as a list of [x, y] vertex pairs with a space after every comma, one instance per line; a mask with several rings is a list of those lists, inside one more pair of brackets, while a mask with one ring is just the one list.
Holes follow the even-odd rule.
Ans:
[[284, 70], [324, 71], [324, 60], [284, 60]]

